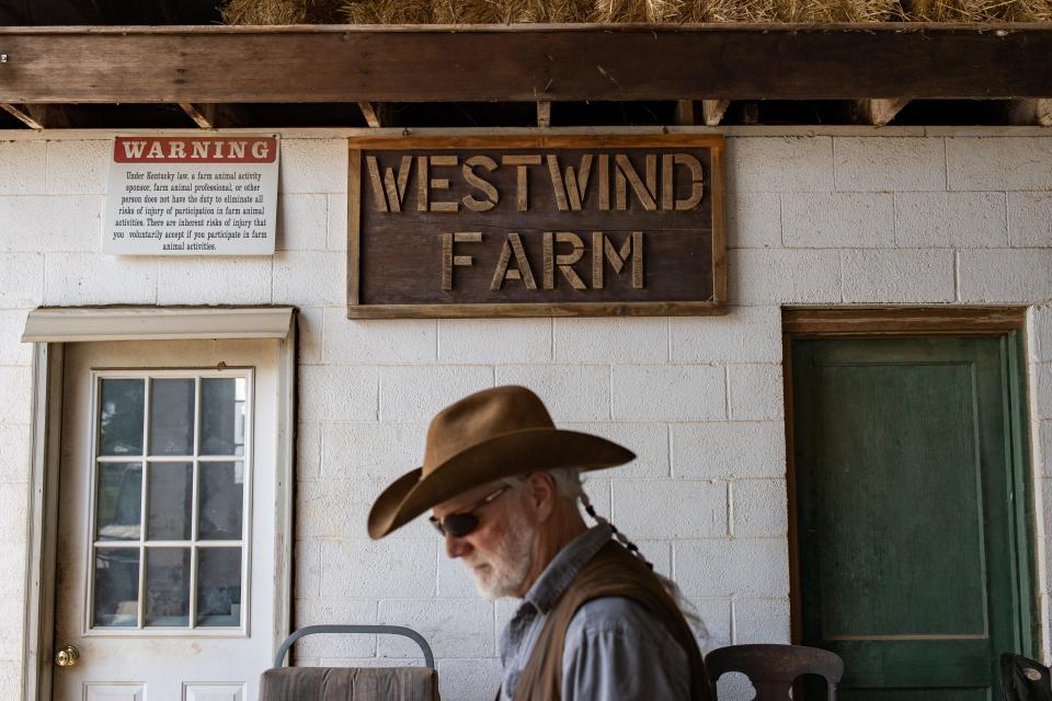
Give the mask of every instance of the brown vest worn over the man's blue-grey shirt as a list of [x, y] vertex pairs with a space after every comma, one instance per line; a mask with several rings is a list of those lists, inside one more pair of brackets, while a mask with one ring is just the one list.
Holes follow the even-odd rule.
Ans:
[[701, 652], [679, 607], [639, 559], [613, 540], [574, 577], [548, 613], [515, 690], [515, 701], [558, 701], [562, 689], [562, 647], [570, 619], [592, 599], [632, 599], [654, 616], [687, 653], [690, 701], [710, 701], [712, 691]]

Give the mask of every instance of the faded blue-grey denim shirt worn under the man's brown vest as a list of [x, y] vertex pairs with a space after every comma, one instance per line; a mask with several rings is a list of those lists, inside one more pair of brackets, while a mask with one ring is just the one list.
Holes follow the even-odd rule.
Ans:
[[[582, 567], [613, 536], [601, 524], [552, 559], [501, 635], [504, 683], [511, 701], [548, 613]], [[676, 701], [690, 698], [687, 654], [636, 601], [607, 597], [574, 613], [562, 652], [562, 701]]]

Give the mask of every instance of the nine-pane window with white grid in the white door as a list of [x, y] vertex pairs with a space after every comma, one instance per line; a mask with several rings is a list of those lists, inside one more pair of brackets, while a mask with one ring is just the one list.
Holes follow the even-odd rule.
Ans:
[[[125, 443], [111, 440], [108, 438], [112, 436], [107, 436], [107, 433], [114, 433], [107, 432], [106, 424], [114, 418], [115, 403], [107, 401], [106, 382], [114, 387], [123, 382], [124, 389], [133, 390], [130, 424], [135, 430], [125, 430]], [[192, 383], [193, 388], [190, 426], [182, 427], [191, 434], [183, 447], [191, 449], [182, 450], [181, 455], [171, 449], [170, 443], [168, 449], [158, 446], [158, 434], [153, 432], [157, 426], [151, 425], [162, 423], [156, 420], [162, 412], [156, 410], [163, 409], [163, 402], [155, 405], [152, 400], [155, 393], [159, 398], [157, 390], [165, 383], [170, 386], [169, 389], [180, 383], [184, 389], [187, 383]], [[92, 389], [92, 455], [95, 457], [92, 464], [89, 529], [92, 548], [87, 629], [121, 634], [132, 631], [152, 634], [165, 631], [208, 633], [245, 630], [251, 504], [251, 370], [96, 371], [93, 374]], [[135, 389], [140, 390], [140, 398], [135, 397]], [[227, 399], [232, 400], [227, 402], [230, 405], [228, 410], [232, 409], [232, 416], [229, 411], [225, 418], [221, 413], [217, 414], [215, 401], [206, 400], [203, 405], [203, 395], [222, 394], [222, 391], [208, 391], [216, 389], [225, 389]], [[233, 390], [232, 397], [230, 389]], [[141, 406], [141, 417], [135, 415], [134, 404]], [[232, 422], [228, 426], [226, 440], [221, 439], [219, 434], [222, 432], [211, 421], [217, 416], [227, 423]], [[215, 450], [217, 446], [224, 450]], [[211, 450], [203, 451], [204, 448]], [[190, 513], [185, 515], [190, 522], [182, 526], [183, 533], [188, 531], [188, 537], [173, 538], [171, 532], [161, 532], [167, 537], [153, 538], [151, 531], [164, 529], [155, 526], [152, 516], [165, 509], [171, 512], [171, 504], [162, 504], [167, 499], [157, 499], [158, 504], [151, 512], [150, 497], [156, 496], [151, 478], [158, 471], [179, 468], [183, 469], [184, 482], [185, 473], [190, 473]], [[116, 493], [114, 474], [119, 476]], [[209, 479], [213, 474], [219, 474], [220, 479]], [[208, 485], [216, 483], [219, 487], [216, 493], [219, 494], [224, 476], [233, 487], [228, 492], [240, 490], [240, 494], [236, 495], [239, 498], [231, 501], [228, 493], [225, 501], [219, 498], [209, 503]], [[122, 489], [132, 494], [130, 499], [122, 494]], [[122, 498], [132, 504], [122, 504], [126, 507], [125, 513], [118, 514], [116, 502]], [[216, 521], [219, 522], [218, 527]], [[165, 563], [165, 560], [169, 562]], [[169, 568], [167, 575], [165, 565]], [[217, 582], [228, 586], [215, 586]], [[165, 601], [161, 596], [165, 588], [170, 595], [173, 584], [176, 593], [174, 614], [171, 611], [172, 598], [169, 596]], [[114, 591], [114, 587], [117, 590]], [[116, 608], [111, 606], [108, 612], [99, 610], [100, 596], [107, 594], [118, 600]], [[102, 601], [101, 608], [105, 609], [112, 602]]]

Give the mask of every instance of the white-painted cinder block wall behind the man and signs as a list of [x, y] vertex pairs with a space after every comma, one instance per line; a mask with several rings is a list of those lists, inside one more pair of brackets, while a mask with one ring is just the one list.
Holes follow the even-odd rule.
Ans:
[[[344, 318], [346, 141], [282, 142], [278, 253], [101, 255], [112, 134], [0, 142], [0, 698], [18, 699], [39, 304], [288, 303], [301, 309], [296, 624], [405, 623], [447, 699], [490, 699], [507, 601], [480, 600], [422, 522], [377, 544], [373, 497], [421, 458], [427, 418], [494, 383], [536, 389], [557, 422], [640, 458], [595, 474], [597, 507], [672, 574], [708, 646], [789, 639], [779, 306], [1013, 303], [1029, 317], [1030, 406], [1049, 645], [1052, 517], [1052, 136], [1036, 130], [728, 130], [724, 318], [370, 321]], [[21, 135], [20, 135], [21, 136]], [[301, 662], [387, 664], [371, 637]], [[1044, 653], [1048, 655], [1048, 652]]]

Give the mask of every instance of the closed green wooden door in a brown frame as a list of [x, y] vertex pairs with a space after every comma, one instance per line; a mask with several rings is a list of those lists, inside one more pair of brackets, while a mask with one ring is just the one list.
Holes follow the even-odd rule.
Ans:
[[1015, 343], [793, 343], [801, 642], [843, 701], [1000, 699], [1031, 652]]

